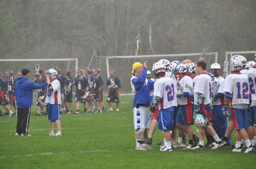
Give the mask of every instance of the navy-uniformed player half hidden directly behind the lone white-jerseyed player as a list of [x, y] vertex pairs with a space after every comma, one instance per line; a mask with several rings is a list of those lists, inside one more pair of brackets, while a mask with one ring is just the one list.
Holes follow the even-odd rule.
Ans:
[[66, 111], [66, 108], [65, 108], [65, 102], [66, 102], [65, 95], [66, 95], [66, 88], [67, 88], [66, 77], [60, 74], [59, 68], [56, 68], [55, 70], [58, 73], [57, 80], [60, 82], [60, 96], [61, 96], [61, 107], [62, 107], [60, 109], [60, 114], [63, 114]]

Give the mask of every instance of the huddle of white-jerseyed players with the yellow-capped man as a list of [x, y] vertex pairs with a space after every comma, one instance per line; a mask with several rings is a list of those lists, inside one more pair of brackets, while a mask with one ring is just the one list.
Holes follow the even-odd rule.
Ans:
[[[220, 76], [223, 67], [224, 78]], [[211, 73], [208, 73], [204, 58], [196, 63], [189, 59], [171, 63], [161, 59], [153, 65], [154, 80], [147, 71], [147, 61], [143, 65], [134, 63], [131, 86], [135, 150], [152, 150], [149, 145], [158, 127], [163, 136], [163, 142], [157, 143], [161, 145], [160, 151], [227, 147], [235, 129], [233, 152], [241, 152], [243, 143], [244, 153], [256, 152], [256, 63], [234, 55], [223, 67], [213, 63]], [[149, 117], [151, 120], [148, 121]], [[193, 133], [191, 125], [194, 123], [199, 136]], [[185, 145], [187, 135], [188, 146]]]

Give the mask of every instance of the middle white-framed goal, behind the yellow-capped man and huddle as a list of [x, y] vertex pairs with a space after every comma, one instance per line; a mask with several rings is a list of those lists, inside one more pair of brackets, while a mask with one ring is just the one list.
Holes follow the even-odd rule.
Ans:
[[[99, 59], [100, 58], [100, 59]], [[190, 59], [192, 62], [197, 62], [200, 58], [204, 58], [207, 62], [207, 71], [210, 70], [212, 63], [218, 62], [218, 53], [189, 53], [189, 54], [170, 54], [170, 55], [140, 55], [140, 56], [115, 56], [115, 57], [99, 57], [100, 60], [100, 76], [102, 77], [104, 84], [109, 77], [109, 71], [115, 70], [116, 77], [118, 77], [122, 83], [120, 88], [120, 94], [132, 93], [131, 77], [132, 77], [132, 65], [135, 62], [144, 63], [148, 60], [147, 70], [151, 72], [151, 78], [156, 79], [152, 72], [152, 66], [160, 59], [167, 59], [170, 62], [174, 60], [180, 60], [181, 62], [186, 59]], [[105, 90], [106, 91], [106, 90]]]

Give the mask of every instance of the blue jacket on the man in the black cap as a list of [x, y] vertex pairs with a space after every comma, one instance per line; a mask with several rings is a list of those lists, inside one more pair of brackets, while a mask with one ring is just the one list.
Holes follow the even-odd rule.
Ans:
[[26, 77], [18, 77], [15, 83], [15, 96], [18, 108], [26, 108], [33, 105], [33, 90], [44, 88], [47, 83], [36, 84], [32, 81], [28, 81]]

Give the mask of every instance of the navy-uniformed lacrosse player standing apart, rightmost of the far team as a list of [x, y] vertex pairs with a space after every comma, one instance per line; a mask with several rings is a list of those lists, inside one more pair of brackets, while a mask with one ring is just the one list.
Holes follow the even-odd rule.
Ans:
[[109, 110], [107, 111], [113, 111], [112, 109], [112, 103], [116, 103], [116, 111], [119, 111], [119, 88], [121, 88], [122, 84], [118, 77], [116, 77], [116, 71], [111, 70], [109, 72], [110, 77], [107, 80], [107, 88], [108, 88], [108, 97], [107, 102], [109, 105]]

